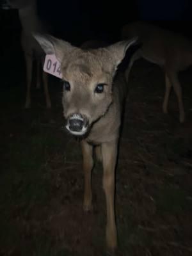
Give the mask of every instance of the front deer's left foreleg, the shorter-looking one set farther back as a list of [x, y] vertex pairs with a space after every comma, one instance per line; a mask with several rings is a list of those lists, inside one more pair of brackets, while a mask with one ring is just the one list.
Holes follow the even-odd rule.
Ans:
[[86, 141], [81, 141], [83, 153], [83, 172], [84, 172], [84, 211], [92, 209], [92, 169], [93, 169], [93, 146]]

